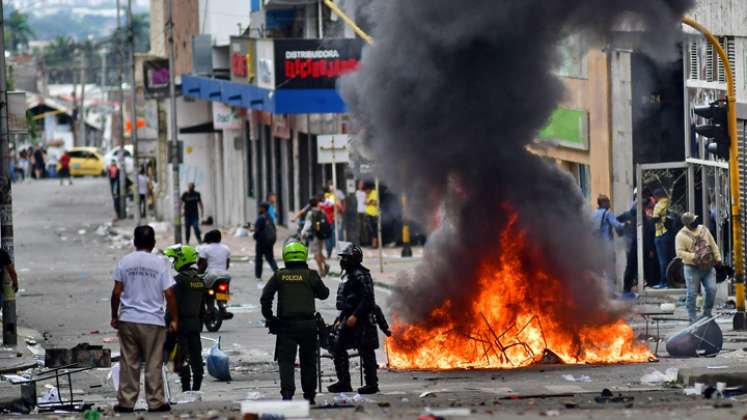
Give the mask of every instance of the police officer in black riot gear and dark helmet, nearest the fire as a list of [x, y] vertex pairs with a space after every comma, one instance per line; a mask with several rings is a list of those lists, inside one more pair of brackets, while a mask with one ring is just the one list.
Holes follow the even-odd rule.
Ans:
[[[340, 316], [335, 321], [337, 333], [332, 344], [337, 382], [330, 385], [329, 392], [351, 392], [350, 361], [348, 349], [358, 350], [363, 365], [366, 385], [358, 388], [359, 394], [379, 392], [379, 378], [376, 374], [376, 350], [379, 336], [376, 329], [376, 300], [373, 279], [363, 267], [363, 251], [357, 245], [348, 245], [339, 254], [342, 279], [337, 289], [337, 309]], [[387, 328], [388, 329], [388, 328]]]

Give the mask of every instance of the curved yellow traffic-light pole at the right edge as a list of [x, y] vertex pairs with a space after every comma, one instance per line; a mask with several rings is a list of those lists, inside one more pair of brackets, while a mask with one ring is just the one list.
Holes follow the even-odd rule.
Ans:
[[737, 315], [734, 317], [734, 329], [745, 329], [745, 296], [744, 296], [744, 255], [742, 255], [742, 213], [739, 202], [739, 161], [737, 159], [737, 90], [734, 86], [734, 76], [729, 57], [715, 36], [700, 23], [685, 16], [682, 22], [702, 33], [716, 50], [726, 73], [726, 103], [729, 132], [729, 189], [731, 190], [731, 232], [733, 237], [734, 271], [736, 272], [735, 294], [737, 300]]

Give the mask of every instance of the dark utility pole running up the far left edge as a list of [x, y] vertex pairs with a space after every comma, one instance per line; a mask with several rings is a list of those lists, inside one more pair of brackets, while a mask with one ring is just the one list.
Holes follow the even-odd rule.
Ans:
[[[3, 2], [0, 0], [0, 34], [5, 33], [5, 15]], [[8, 127], [8, 91], [5, 80], [5, 37], [0, 36], [0, 243], [2, 248], [13, 258], [13, 196], [10, 183], [10, 128]], [[3, 344], [18, 344], [16, 332], [16, 297], [13, 289], [7, 285], [4, 276], [3, 284]]]

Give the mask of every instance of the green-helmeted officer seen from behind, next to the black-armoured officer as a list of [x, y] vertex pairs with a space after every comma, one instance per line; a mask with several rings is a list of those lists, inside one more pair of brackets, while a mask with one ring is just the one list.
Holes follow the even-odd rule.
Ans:
[[[293, 399], [296, 391], [293, 363], [296, 349], [301, 362], [303, 397], [314, 404], [316, 395], [317, 323], [314, 299], [324, 300], [329, 289], [319, 274], [306, 265], [309, 251], [300, 242], [283, 247], [285, 268], [278, 270], [262, 290], [260, 304], [270, 334], [277, 334], [275, 357], [280, 368], [280, 395]], [[272, 300], [278, 294], [278, 314], [272, 313]]]

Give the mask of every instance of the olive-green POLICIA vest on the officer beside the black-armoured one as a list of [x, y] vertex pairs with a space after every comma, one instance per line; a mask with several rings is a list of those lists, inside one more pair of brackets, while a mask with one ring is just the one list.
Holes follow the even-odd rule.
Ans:
[[309, 284], [311, 270], [282, 269], [275, 273], [278, 282], [278, 318], [311, 319], [316, 313], [314, 290]]

